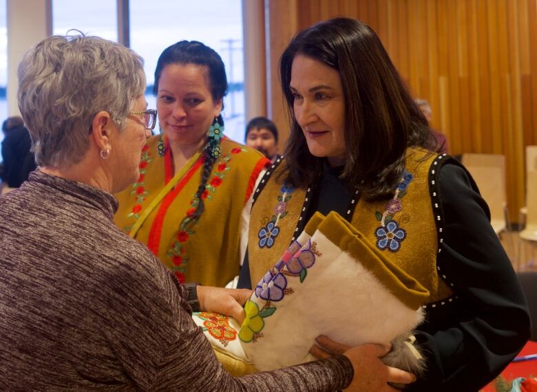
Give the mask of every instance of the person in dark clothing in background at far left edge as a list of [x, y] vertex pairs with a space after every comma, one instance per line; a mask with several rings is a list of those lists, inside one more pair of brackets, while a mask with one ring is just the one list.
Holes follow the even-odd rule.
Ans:
[[13, 116], [2, 124], [4, 139], [2, 142], [3, 171], [0, 179], [1, 192], [6, 193], [19, 188], [28, 179], [28, 175], [36, 168], [35, 158], [30, 147], [30, 133], [24, 126], [20, 116]]

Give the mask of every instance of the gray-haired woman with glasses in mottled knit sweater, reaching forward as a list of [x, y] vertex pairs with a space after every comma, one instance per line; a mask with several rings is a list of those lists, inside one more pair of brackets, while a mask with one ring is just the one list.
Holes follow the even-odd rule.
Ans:
[[[370, 378], [354, 363], [386, 348], [232, 378], [191, 319], [185, 288], [112, 223], [111, 193], [138, 177], [155, 121], [142, 63], [103, 39], [52, 36], [19, 66], [39, 170], [0, 197], [1, 389], [359, 390]], [[248, 295], [198, 287], [202, 309], [237, 318]]]

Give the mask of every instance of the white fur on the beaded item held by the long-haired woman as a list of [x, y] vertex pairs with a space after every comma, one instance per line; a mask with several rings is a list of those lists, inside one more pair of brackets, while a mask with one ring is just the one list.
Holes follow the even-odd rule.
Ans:
[[[306, 243], [302, 233], [299, 243]], [[294, 290], [264, 318], [263, 336], [243, 343], [249, 361], [260, 371], [313, 360], [315, 338], [326, 335], [346, 345], [387, 343], [416, 327], [423, 314], [399, 301], [359, 261], [342, 252], [318, 230], [312, 237], [322, 253], [308, 269], [304, 283], [286, 276]], [[252, 294], [260, 309], [265, 301]]]

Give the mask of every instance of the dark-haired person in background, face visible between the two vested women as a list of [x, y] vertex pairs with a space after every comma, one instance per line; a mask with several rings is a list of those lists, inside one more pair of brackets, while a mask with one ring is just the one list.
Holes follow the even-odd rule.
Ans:
[[276, 152], [278, 145], [276, 124], [266, 117], [255, 117], [248, 122], [244, 142], [263, 153], [271, 162], [275, 162], [281, 156]]

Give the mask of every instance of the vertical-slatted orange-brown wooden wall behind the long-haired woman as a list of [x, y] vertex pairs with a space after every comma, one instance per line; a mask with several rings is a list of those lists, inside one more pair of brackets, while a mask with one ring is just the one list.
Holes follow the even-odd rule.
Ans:
[[[265, 1], [289, 13], [288, 1]], [[525, 146], [537, 144], [537, 0], [297, 0], [296, 14], [297, 31], [336, 16], [368, 23], [412, 94], [431, 102], [452, 154], [505, 155], [518, 219]]]

